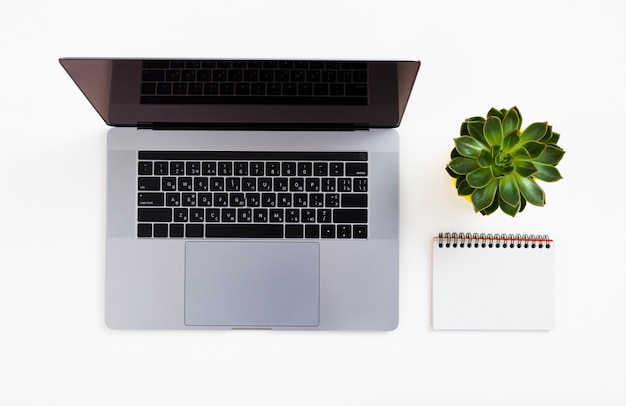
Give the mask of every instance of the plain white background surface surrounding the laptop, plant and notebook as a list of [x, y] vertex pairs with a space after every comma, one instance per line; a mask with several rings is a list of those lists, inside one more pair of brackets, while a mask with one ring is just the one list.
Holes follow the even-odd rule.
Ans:
[[[11, 4], [10, 6], [7, 4]], [[626, 404], [626, 10], [608, 0], [23, 1], [0, 12], [0, 404]], [[401, 134], [400, 326], [112, 331], [107, 126], [62, 56], [420, 59]], [[517, 105], [567, 151], [544, 208], [475, 214], [444, 171]], [[431, 329], [431, 237], [550, 234], [552, 332]]]

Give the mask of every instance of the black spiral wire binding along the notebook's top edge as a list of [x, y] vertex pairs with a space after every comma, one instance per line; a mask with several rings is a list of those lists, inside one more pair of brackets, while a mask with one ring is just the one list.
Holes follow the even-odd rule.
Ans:
[[439, 233], [439, 248], [551, 248], [547, 235]]

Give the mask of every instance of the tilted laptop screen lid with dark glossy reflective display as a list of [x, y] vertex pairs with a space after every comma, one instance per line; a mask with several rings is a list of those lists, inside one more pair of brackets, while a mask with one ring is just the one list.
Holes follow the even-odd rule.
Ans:
[[108, 125], [164, 129], [397, 127], [420, 67], [336, 60], [60, 63]]

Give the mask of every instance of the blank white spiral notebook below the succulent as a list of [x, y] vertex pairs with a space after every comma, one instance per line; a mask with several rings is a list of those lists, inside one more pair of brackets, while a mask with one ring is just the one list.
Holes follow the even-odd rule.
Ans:
[[432, 249], [434, 329], [553, 329], [548, 236], [440, 233]]

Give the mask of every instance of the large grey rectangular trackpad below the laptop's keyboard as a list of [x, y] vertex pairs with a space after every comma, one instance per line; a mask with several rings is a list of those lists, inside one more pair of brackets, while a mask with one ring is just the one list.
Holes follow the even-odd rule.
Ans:
[[185, 324], [319, 325], [319, 244], [187, 242]]

